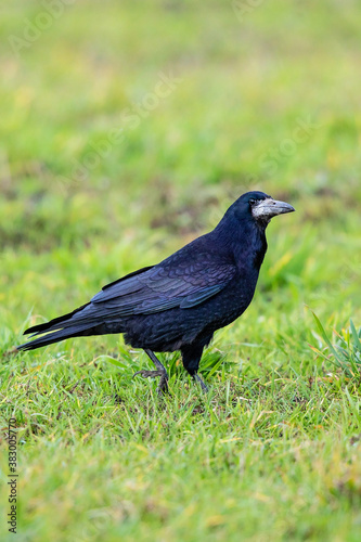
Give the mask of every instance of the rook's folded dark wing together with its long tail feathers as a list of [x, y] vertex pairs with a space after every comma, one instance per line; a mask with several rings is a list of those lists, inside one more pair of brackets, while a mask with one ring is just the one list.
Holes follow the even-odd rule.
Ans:
[[[155, 314], [169, 309], [191, 309], [221, 292], [236, 274], [236, 267], [218, 255], [193, 253], [192, 258], [176, 253], [151, 268], [140, 269], [107, 284], [90, 302], [68, 314], [26, 330], [43, 339], [75, 336], [102, 323], [121, 323], [133, 315]], [[121, 327], [121, 325], [120, 325]], [[51, 337], [54, 337], [53, 339]], [[42, 339], [37, 339], [42, 340]], [[26, 344], [35, 345], [35, 343]]]

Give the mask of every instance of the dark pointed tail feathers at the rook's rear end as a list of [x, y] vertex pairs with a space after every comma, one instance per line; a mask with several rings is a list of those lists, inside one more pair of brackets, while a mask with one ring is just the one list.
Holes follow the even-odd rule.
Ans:
[[95, 321], [91, 305], [90, 302], [86, 304], [73, 312], [50, 320], [50, 322], [29, 327], [24, 332], [24, 335], [33, 333], [31, 337], [37, 338], [17, 346], [16, 349], [34, 350], [72, 337], [104, 333], [104, 325]]

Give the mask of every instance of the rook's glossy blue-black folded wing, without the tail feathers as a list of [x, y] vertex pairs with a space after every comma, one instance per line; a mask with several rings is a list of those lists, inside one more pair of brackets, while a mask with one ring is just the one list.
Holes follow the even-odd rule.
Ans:
[[116, 309], [119, 317], [189, 309], [218, 294], [235, 274], [235, 264], [218, 255], [193, 254], [189, 259], [176, 253], [153, 268], [104, 286], [91, 304]]

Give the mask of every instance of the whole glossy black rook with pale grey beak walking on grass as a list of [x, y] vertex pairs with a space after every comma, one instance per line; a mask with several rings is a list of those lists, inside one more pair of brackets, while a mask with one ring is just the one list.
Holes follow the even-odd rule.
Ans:
[[17, 350], [124, 333], [126, 343], [142, 348], [156, 366], [136, 374], [160, 376], [159, 392], [168, 389], [168, 375], [154, 351], [180, 350], [184, 369], [207, 390], [197, 374], [203, 349], [250, 304], [267, 250], [266, 228], [272, 217], [294, 210], [263, 192], [243, 194], [215, 230], [160, 263], [107, 284], [73, 312], [26, 330], [41, 336]]

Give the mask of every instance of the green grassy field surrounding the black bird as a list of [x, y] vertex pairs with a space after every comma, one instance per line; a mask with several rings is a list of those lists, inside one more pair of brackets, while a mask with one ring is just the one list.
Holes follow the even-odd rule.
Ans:
[[[1, 540], [359, 542], [358, 3], [0, 9]], [[164, 354], [159, 402], [118, 336], [11, 353], [254, 189], [297, 212], [203, 358], [207, 397]]]

